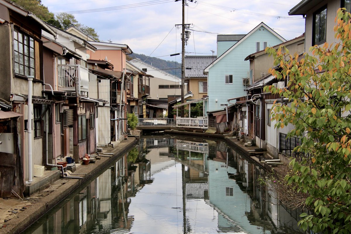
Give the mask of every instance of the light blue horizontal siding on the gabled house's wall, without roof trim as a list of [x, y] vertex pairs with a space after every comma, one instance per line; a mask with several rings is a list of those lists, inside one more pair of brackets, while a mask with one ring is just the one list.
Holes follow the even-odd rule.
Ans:
[[[256, 42], [259, 41], [260, 44], [263, 44], [266, 41], [268, 46], [277, 45], [282, 42], [276, 35], [267, 31], [263, 26], [259, 29], [209, 69], [208, 111], [224, 108], [220, 104], [228, 103], [227, 99], [229, 98], [246, 95], [242, 78], [247, 77], [250, 62], [244, 61], [244, 59], [247, 55], [256, 52]], [[233, 75], [232, 84], [225, 84], [225, 75]]]

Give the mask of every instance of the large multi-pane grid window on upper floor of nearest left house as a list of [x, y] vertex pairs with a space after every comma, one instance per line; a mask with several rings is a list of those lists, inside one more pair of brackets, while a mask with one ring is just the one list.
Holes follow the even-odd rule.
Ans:
[[15, 28], [13, 46], [15, 74], [35, 76], [34, 39]]

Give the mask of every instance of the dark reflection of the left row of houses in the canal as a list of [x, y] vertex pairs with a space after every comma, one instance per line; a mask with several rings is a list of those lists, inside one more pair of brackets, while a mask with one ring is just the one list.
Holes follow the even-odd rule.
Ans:
[[[42, 224], [35, 233], [110, 233], [129, 229], [129, 185], [133, 173], [127, 171], [127, 155], [89, 183], [61, 209]], [[129, 195], [128, 195], [129, 194]]]

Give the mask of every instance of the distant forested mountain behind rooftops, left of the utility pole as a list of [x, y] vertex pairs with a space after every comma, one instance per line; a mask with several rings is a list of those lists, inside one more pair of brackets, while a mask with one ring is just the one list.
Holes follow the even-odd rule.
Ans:
[[169, 61], [159, 58], [149, 57], [145, 54], [136, 54], [132, 53], [127, 55], [127, 60], [132, 60], [134, 58], [138, 58], [141, 61], [150, 64], [158, 69], [168, 72], [174, 76], [181, 77], [181, 63], [175, 61]]

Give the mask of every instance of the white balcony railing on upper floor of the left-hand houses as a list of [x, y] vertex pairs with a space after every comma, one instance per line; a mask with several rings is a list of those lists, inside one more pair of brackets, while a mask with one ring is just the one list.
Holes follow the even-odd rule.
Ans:
[[75, 79], [77, 78], [78, 93], [86, 95], [89, 89], [88, 68], [81, 65], [58, 65], [59, 90], [75, 92]]

